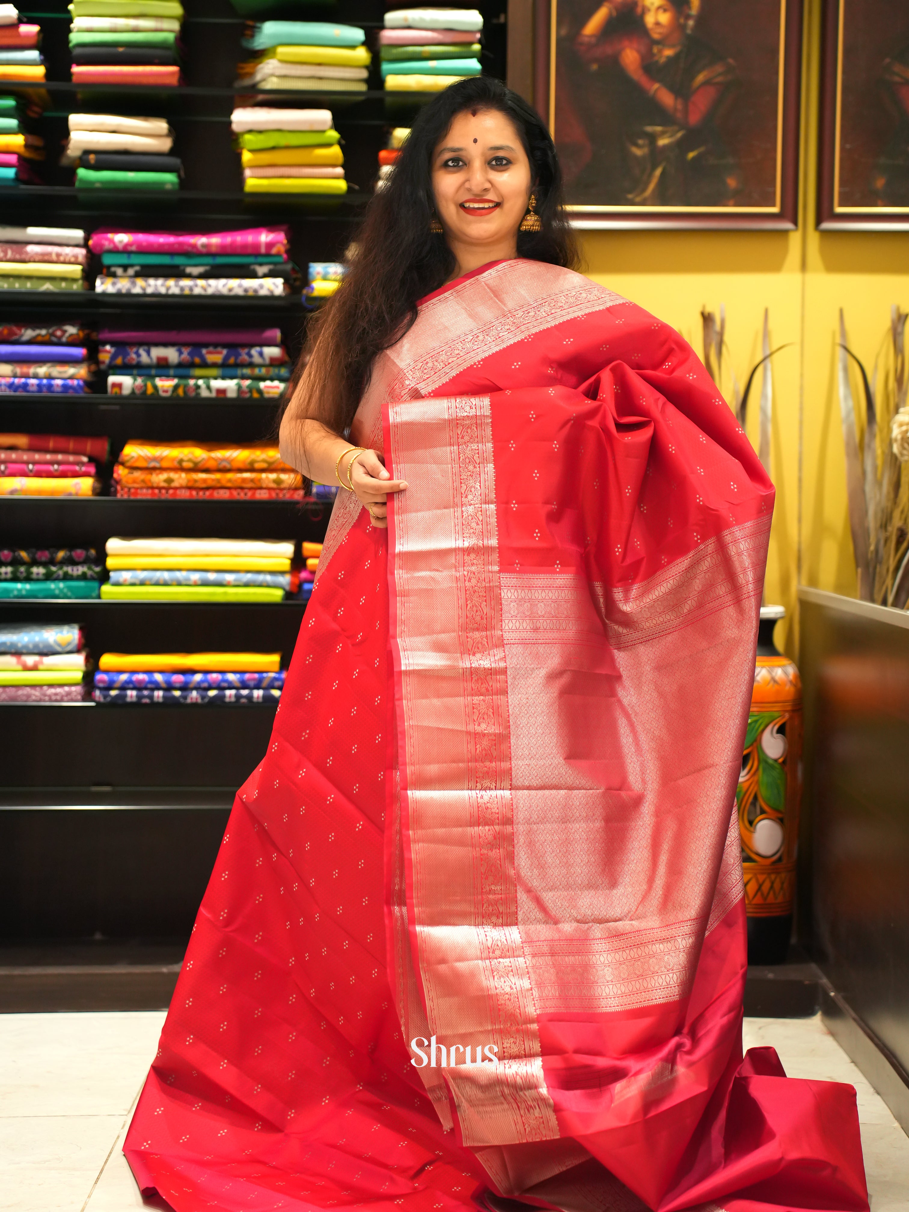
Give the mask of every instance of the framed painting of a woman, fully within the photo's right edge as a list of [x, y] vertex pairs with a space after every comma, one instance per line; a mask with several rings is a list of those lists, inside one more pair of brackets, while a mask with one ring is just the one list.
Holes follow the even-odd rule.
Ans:
[[533, 99], [583, 228], [797, 225], [800, 0], [536, 0]]

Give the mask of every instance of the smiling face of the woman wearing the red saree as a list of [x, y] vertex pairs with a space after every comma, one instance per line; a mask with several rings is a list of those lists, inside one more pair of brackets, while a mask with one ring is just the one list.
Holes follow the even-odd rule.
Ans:
[[435, 210], [452, 245], [501, 245], [516, 238], [532, 175], [510, 118], [465, 110], [433, 154]]

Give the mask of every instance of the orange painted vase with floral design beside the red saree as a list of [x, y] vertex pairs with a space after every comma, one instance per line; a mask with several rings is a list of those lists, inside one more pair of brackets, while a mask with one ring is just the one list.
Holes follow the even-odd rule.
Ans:
[[748, 962], [782, 964], [795, 901], [801, 806], [801, 679], [773, 644], [782, 606], [762, 606], [751, 710], [736, 801], [748, 914]]

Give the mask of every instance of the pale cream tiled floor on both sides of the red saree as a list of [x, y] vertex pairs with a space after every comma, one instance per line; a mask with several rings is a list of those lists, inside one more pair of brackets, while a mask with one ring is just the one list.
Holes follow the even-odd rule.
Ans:
[[[120, 1151], [155, 1053], [161, 1012], [0, 1014], [0, 1210], [143, 1207]], [[873, 1212], [909, 1212], [909, 1137], [821, 1019], [745, 1019], [745, 1047], [771, 1044], [791, 1077], [847, 1081]]]

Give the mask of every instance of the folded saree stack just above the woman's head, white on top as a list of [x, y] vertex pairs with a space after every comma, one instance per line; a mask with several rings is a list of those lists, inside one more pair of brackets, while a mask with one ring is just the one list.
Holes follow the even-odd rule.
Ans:
[[396, 8], [379, 33], [387, 92], [441, 92], [480, 75], [482, 17], [476, 8]]

